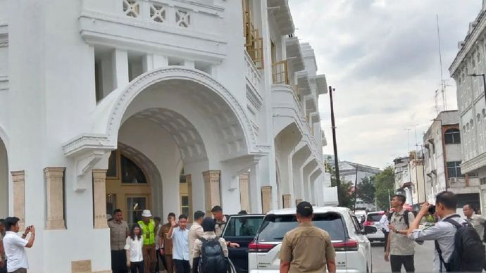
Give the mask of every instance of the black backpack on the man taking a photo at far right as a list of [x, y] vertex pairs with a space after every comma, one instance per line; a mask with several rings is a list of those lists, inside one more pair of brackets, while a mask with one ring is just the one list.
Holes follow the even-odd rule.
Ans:
[[[452, 215], [451, 217], [459, 217]], [[439, 243], [435, 240], [435, 250], [440, 257], [440, 271], [442, 266], [447, 272], [482, 272], [482, 265], [485, 262], [485, 247], [482, 246], [478, 232], [469, 223], [459, 224], [448, 217], [444, 222], [448, 222], [456, 227], [454, 236], [454, 251], [449, 262], [442, 258], [442, 250]]]

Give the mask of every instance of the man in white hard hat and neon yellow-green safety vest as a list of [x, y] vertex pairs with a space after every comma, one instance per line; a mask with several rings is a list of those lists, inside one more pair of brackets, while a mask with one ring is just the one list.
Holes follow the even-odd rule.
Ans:
[[144, 246], [142, 248], [144, 268], [146, 268], [147, 272], [154, 272], [157, 265], [157, 255], [155, 254], [156, 226], [150, 210], [144, 210], [142, 212], [142, 220], [138, 224], [142, 229], [144, 238]]

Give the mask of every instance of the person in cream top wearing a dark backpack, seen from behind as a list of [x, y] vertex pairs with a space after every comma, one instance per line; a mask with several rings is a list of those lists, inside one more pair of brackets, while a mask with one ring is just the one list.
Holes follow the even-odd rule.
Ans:
[[228, 272], [228, 247], [223, 238], [214, 232], [214, 220], [204, 218], [201, 223], [204, 234], [194, 241], [192, 248], [192, 269], [194, 273], [226, 273]]

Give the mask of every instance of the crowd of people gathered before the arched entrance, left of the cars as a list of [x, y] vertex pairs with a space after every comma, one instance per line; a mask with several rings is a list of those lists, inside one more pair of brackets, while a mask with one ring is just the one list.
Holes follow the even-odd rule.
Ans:
[[220, 237], [227, 223], [223, 209], [216, 205], [211, 212], [213, 217], [205, 217], [200, 210], [194, 212], [194, 222], [188, 228], [187, 215], [176, 219], [170, 212], [167, 223], [162, 224], [160, 217], [143, 210], [142, 219], [129, 229], [123, 212], [113, 211], [108, 221], [113, 273], [228, 272], [228, 247], [239, 245]]

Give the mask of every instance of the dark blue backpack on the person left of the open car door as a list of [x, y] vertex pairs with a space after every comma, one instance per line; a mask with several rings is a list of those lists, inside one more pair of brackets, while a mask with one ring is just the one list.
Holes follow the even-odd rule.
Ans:
[[226, 273], [228, 265], [226, 263], [223, 248], [219, 243], [219, 238], [201, 240], [201, 260], [199, 260], [199, 273]]

